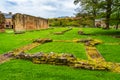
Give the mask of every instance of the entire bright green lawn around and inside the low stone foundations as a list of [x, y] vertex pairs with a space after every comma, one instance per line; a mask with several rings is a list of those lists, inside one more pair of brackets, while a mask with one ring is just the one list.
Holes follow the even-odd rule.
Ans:
[[[109, 45], [107, 43], [120, 43], [120, 38], [112, 36], [119, 35], [120, 30], [102, 30], [97, 28], [82, 28], [86, 34], [78, 35], [79, 28], [66, 32], [64, 35], [54, 35], [54, 32], [66, 30], [67, 28], [54, 28], [26, 32], [24, 34], [14, 34], [7, 30], [0, 33], [0, 54], [14, 50], [18, 47], [31, 43], [37, 38], [51, 38], [53, 40], [73, 40], [93, 38], [102, 40], [103, 43], [97, 45], [97, 49], [107, 61], [120, 63], [120, 45]], [[81, 29], [81, 28], [80, 28]], [[87, 59], [85, 47], [82, 43], [51, 42], [42, 44], [27, 53], [55, 52], [71, 53], [78, 58]], [[33, 64], [24, 60], [11, 60], [0, 64], [0, 80], [120, 80], [119, 73], [107, 71], [90, 71], [73, 69], [67, 66], [54, 66], [47, 64]]]

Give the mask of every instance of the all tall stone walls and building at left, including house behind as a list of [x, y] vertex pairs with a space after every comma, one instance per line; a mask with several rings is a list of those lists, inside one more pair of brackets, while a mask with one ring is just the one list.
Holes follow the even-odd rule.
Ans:
[[5, 28], [11, 28], [15, 32], [30, 30], [40, 30], [48, 28], [48, 20], [41, 17], [35, 17], [27, 14], [9, 14], [0, 13], [0, 30], [4, 32]]

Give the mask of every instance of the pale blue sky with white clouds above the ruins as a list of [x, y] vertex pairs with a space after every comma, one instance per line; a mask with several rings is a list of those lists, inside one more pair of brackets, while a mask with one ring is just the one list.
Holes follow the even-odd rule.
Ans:
[[45, 18], [74, 16], [74, 0], [0, 0], [0, 11], [24, 13]]

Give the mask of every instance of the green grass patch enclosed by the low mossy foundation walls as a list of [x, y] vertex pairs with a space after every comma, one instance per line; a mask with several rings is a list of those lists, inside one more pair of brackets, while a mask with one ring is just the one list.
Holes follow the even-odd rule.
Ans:
[[87, 59], [85, 48], [83, 44], [78, 43], [69, 43], [69, 42], [51, 42], [43, 44], [37, 48], [30, 50], [28, 53], [37, 53], [37, 52], [44, 52], [44, 53], [70, 53], [74, 54], [76, 57]]

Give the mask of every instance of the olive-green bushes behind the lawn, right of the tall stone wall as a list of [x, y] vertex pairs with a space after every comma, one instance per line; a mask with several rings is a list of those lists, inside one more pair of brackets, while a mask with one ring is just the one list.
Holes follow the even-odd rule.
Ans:
[[66, 27], [66, 26], [89, 26], [92, 27], [91, 20], [88, 17], [74, 17], [74, 18], [52, 18], [49, 19], [50, 26], [53, 27]]

